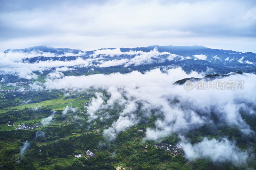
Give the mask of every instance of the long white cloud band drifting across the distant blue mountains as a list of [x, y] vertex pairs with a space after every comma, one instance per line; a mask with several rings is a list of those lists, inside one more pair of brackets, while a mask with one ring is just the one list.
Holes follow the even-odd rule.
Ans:
[[[96, 50], [91, 55], [86, 55], [85, 53], [71, 54], [65, 53], [66, 56], [77, 56], [75, 60], [69, 61], [59, 61], [59, 60], [46, 60], [46, 61], [36, 61], [30, 63], [28, 61], [23, 61], [24, 58], [33, 58], [36, 56], [45, 57], [61, 57], [63, 55], [57, 55], [54, 53], [41, 53], [37, 51], [32, 51], [30, 53], [24, 53], [22, 51], [8, 53], [0, 53], [0, 74], [12, 74], [19, 76], [20, 78], [26, 79], [36, 79], [38, 76], [34, 73], [39, 71], [43, 73], [45, 70], [50, 70], [51, 68], [56, 68], [54, 72], [50, 72], [47, 77], [50, 79], [64, 77], [63, 71], [72, 71], [76, 68], [81, 67], [111, 67], [120, 66], [129, 67], [131, 65], [145, 65], [152, 63], [164, 63], [166, 61], [172, 60], [184, 60], [186, 58], [191, 58], [189, 56], [184, 57], [180, 55], [171, 54], [169, 52], [159, 52], [157, 48], [149, 52], [142, 51], [128, 51], [121, 52], [119, 48], [116, 49], [102, 49]], [[122, 58], [118, 56], [122, 55]], [[79, 57], [80, 56], [80, 57]], [[116, 59], [112, 59], [116, 56]], [[109, 58], [110, 57], [110, 58]], [[194, 57], [194, 59], [197, 59]]]

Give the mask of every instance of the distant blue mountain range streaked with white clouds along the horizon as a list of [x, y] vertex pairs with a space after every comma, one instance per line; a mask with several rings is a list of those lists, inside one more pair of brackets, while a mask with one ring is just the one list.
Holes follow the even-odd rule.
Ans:
[[[91, 67], [103, 67], [100, 64], [113, 61], [115, 64], [109, 64], [105, 67], [129, 67], [134, 70], [146, 66], [145, 68], [148, 70], [163, 66], [181, 66], [185, 71], [212, 70], [216, 74], [227, 74], [239, 70], [250, 73], [256, 72], [256, 54], [254, 53], [211, 49], [203, 46], [104, 48], [94, 51], [36, 46], [4, 51], [4, 53], [14, 52], [34, 54], [33, 57], [23, 58], [21, 61], [23, 63], [72, 61], [81, 58], [83, 60], [93, 60]], [[48, 56], [46, 53], [52, 55]], [[118, 62], [119, 64], [117, 64]]]

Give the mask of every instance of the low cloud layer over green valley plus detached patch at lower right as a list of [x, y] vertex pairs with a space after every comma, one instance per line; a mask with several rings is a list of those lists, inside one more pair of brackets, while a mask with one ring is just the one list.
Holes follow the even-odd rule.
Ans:
[[[87, 88], [105, 89], [111, 96], [104, 102], [102, 93], [97, 92], [92, 103], [86, 106], [90, 120], [100, 117], [100, 120], [111, 119], [108, 113], [102, 113], [103, 108], [111, 108], [114, 104], [122, 106], [119, 118], [112, 126], [103, 131], [107, 141], [113, 141], [116, 134], [138, 123], [147, 123], [146, 118], [152, 114], [162, 115], [155, 122], [156, 128], [146, 129], [146, 139], [157, 140], [175, 132], [180, 135], [209, 125], [214, 129], [223, 126], [236, 126], [244, 135], [255, 135], [251, 127], [244, 121], [240, 111], [255, 114], [256, 75], [230, 74], [228, 77], [213, 78], [211, 81], [244, 81], [243, 89], [205, 88], [187, 91], [184, 85], [173, 84], [173, 77], [183, 79], [188, 77], [202, 78], [202, 74], [191, 72], [186, 74], [181, 68], [169, 69], [165, 73], [160, 69], [151, 70], [144, 74], [132, 71], [128, 74], [113, 73], [110, 75], [66, 76], [59, 79], [47, 79], [42, 84], [46, 89], [85, 90]], [[203, 79], [201, 81], [208, 81]], [[198, 84], [198, 83], [197, 83]], [[196, 85], [197, 85], [196, 84]], [[206, 86], [207, 87], [207, 86]], [[153, 113], [152, 110], [155, 110]], [[184, 140], [186, 141], [186, 140]], [[185, 148], [186, 157], [209, 157], [213, 161], [235, 162], [238, 158], [244, 162], [247, 152], [238, 149], [234, 142], [223, 138], [220, 141], [204, 139], [198, 144], [181, 141]], [[211, 145], [211, 151], [203, 148]], [[218, 147], [219, 146], [219, 147]], [[201, 149], [200, 149], [201, 148]], [[225, 153], [220, 152], [225, 148]]]

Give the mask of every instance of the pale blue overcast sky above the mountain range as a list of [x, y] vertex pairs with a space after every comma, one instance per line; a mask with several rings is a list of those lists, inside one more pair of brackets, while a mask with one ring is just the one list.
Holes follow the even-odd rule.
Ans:
[[203, 45], [256, 53], [255, 0], [0, 1], [0, 51]]

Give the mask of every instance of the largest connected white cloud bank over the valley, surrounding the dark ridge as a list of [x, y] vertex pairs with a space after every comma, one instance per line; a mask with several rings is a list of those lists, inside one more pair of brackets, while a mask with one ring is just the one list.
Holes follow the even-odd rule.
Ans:
[[[199, 128], [204, 124], [214, 126], [220, 126], [221, 124], [234, 125], [246, 134], [254, 134], [239, 113], [246, 103], [256, 102], [256, 94], [253, 93], [256, 86], [254, 74], [231, 74], [229, 77], [221, 78], [224, 81], [244, 80], [243, 90], [194, 89], [186, 91], [184, 85], [172, 85], [173, 76], [176, 79], [183, 79], [188, 77], [200, 78], [203, 75], [196, 72], [191, 72], [188, 75], [181, 68], [170, 69], [166, 72], [162, 73], [159, 69], [156, 69], [144, 74], [132, 71], [128, 74], [68, 76], [58, 80], [48, 79], [44, 85], [47, 89], [76, 90], [89, 87], [106, 89], [111, 95], [107, 103], [103, 104], [102, 95], [97, 93], [97, 99], [94, 98], [87, 109], [88, 115], [93, 120], [98, 117], [95, 113], [100, 111], [100, 108], [112, 106], [114, 102], [124, 106], [124, 110], [119, 113], [119, 119], [112, 123], [110, 129], [105, 130], [108, 135], [110, 132], [118, 133], [144, 120], [143, 117], [136, 115], [137, 106], [135, 103], [139, 101], [145, 101], [143, 105], [147, 105], [148, 108], [148, 110], [144, 110], [143, 115], [150, 115], [150, 108], [155, 108], [159, 111], [157, 114], [164, 116], [163, 119], [156, 121], [156, 128], [147, 129], [146, 138], [148, 139], [156, 140], [172, 132], [183, 133], [193, 128]], [[214, 81], [216, 83], [217, 80]], [[175, 98], [179, 102], [172, 104], [172, 100]], [[217, 124], [214, 124], [210, 113], [219, 117]], [[106, 115], [106, 117], [108, 116]], [[101, 118], [104, 119], [104, 116], [101, 116]], [[121, 124], [123, 124], [123, 128]], [[115, 134], [111, 136], [114, 137]]]

